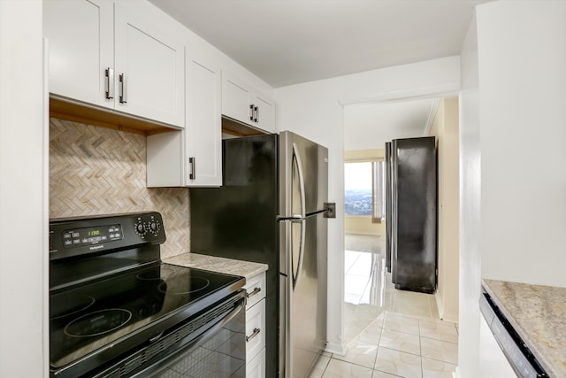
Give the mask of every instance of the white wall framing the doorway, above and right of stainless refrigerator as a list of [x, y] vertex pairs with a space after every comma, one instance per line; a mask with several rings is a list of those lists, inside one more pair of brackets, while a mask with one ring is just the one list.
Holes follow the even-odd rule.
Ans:
[[[342, 303], [344, 274], [343, 104], [385, 102], [443, 95], [460, 89], [459, 57], [312, 81], [275, 90], [278, 131], [291, 130], [329, 149], [329, 200], [338, 216], [329, 221], [328, 349], [344, 351]], [[339, 279], [340, 278], [340, 279]]]

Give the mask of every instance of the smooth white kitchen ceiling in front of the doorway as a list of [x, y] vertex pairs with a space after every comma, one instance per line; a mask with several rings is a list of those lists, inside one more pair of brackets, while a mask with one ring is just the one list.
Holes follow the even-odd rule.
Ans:
[[149, 0], [273, 88], [460, 54], [488, 0]]

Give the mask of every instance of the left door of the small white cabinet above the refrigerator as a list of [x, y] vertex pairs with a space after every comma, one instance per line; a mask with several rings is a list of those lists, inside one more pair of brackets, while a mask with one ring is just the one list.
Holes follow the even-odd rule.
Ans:
[[249, 124], [252, 117], [252, 89], [244, 81], [223, 77], [222, 114]]

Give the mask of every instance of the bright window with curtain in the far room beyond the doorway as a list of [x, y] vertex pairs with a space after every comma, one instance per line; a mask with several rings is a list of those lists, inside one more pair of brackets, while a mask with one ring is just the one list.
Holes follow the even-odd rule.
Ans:
[[385, 218], [385, 163], [349, 162], [344, 165], [345, 214], [368, 216], [374, 223]]

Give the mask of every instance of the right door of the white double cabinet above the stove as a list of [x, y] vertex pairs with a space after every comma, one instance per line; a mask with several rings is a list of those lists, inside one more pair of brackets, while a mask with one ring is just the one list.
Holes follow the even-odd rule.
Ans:
[[115, 109], [184, 127], [183, 41], [134, 11], [115, 5]]

